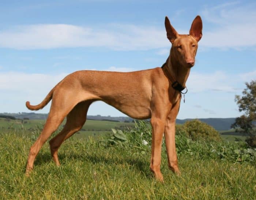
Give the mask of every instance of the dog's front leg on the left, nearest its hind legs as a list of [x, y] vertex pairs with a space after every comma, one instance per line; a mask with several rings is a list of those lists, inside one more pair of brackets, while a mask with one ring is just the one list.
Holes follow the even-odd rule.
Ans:
[[159, 118], [151, 117], [152, 125], [152, 152], [150, 161], [150, 170], [153, 171], [156, 180], [163, 182], [163, 175], [160, 171], [161, 150], [164, 121]]

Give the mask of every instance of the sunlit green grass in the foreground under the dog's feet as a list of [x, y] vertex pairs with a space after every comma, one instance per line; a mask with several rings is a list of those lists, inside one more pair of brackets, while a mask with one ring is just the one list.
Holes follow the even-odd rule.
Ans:
[[[150, 148], [142, 151], [132, 144], [133, 134], [140, 131], [128, 133], [130, 143], [122, 146], [103, 146], [97, 140], [73, 137], [60, 148], [60, 167], [52, 162], [49, 145], [45, 144], [30, 177], [25, 176], [25, 165], [33, 139], [26, 132], [0, 131], [0, 198], [256, 199], [255, 162], [237, 163], [229, 154], [226, 159], [206, 156], [211, 152], [208, 143], [204, 146], [204, 142], [182, 138], [176, 140], [182, 175], [168, 169], [163, 148], [161, 171], [165, 182], [156, 182], [149, 170]], [[147, 138], [146, 131], [143, 136]], [[226, 148], [221, 147], [223, 144], [218, 148]], [[209, 150], [214, 145], [218, 144], [212, 144]]]

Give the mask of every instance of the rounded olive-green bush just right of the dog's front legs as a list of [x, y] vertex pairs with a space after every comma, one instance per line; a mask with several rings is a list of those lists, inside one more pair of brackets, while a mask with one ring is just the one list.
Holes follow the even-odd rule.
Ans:
[[184, 124], [185, 132], [192, 140], [206, 139], [206, 140], [215, 140], [221, 141], [221, 136], [219, 132], [216, 131], [212, 126], [199, 121], [191, 120], [186, 121]]

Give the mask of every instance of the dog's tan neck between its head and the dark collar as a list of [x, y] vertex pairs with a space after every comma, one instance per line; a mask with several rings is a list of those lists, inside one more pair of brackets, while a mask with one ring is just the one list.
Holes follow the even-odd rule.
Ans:
[[174, 56], [173, 49], [170, 50], [170, 56], [166, 60], [166, 65], [169, 68], [172, 76], [176, 79], [178, 83], [180, 83], [183, 87], [185, 87], [190, 68], [182, 66], [176, 57]]

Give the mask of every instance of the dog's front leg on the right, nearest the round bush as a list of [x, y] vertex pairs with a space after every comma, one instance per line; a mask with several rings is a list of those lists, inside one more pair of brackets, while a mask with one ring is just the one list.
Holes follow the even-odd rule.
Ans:
[[176, 116], [178, 114], [179, 106], [180, 106], [180, 102], [177, 102], [176, 105], [174, 105], [174, 107], [170, 111], [165, 122], [165, 130], [164, 130], [168, 166], [174, 173], [177, 173], [177, 174], [180, 174], [180, 170], [178, 168], [178, 159], [177, 159], [176, 147], [175, 147], [175, 124], [176, 124]]

